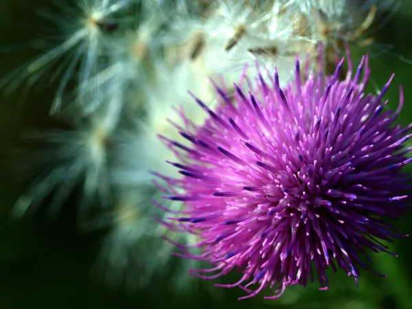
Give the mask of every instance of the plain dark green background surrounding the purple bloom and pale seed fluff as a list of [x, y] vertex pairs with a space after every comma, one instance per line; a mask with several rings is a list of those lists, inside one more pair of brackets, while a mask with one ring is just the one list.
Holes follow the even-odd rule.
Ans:
[[[36, 35], [33, 10], [25, 1], [0, 1], [0, 78], [30, 60], [36, 51], [16, 46]], [[30, 1], [35, 7], [45, 1]], [[27, 3], [26, 3], [27, 4]], [[380, 27], [379, 23], [375, 25]], [[372, 82], [370, 91], [382, 87], [392, 72], [396, 78], [387, 94], [389, 108], [398, 104], [398, 84], [404, 85], [404, 110], [398, 119], [403, 125], [412, 122], [412, 1], [402, 6], [376, 34], [377, 44], [368, 49], [352, 47], [354, 62], [364, 52], [371, 54]], [[392, 45], [392, 49], [388, 46]], [[29, 44], [27, 43], [28, 47]], [[101, 233], [82, 234], [76, 229], [73, 201], [54, 222], [38, 214], [34, 220], [10, 220], [10, 207], [27, 183], [19, 173], [14, 149], [23, 147], [20, 135], [27, 128], [64, 127], [48, 117], [54, 85], [36, 87], [27, 96], [2, 95], [0, 104], [0, 308], [412, 308], [412, 238], [396, 240], [390, 249], [393, 258], [375, 254], [374, 269], [388, 278], [362, 273], [360, 288], [345, 273], [330, 273], [330, 290], [319, 291], [315, 282], [304, 289], [289, 287], [277, 300], [254, 299], [237, 301], [240, 289], [204, 288], [176, 295], [168, 289], [168, 276], [152, 282], [144, 290], [133, 293], [123, 288], [106, 288], [91, 273], [98, 253]], [[23, 87], [24, 88], [24, 87]], [[22, 89], [23, 89], [22, 88]], [[18, 91], [21, 92], [21, 91]], [[20, 93], [21, 94], [21, 93]], [[25, 102], [24, 105], [22, 102]], [[409, 167], [412, 171], [412, 166]], [[412, 215], [397, 222], [401, 233], [412, 233]], [[147, 253], [148, 255], [150, 252]], [[199, 279], [200, 280], [200, 279]], [[225, 280], [229, 283], [230, 279]], [[212, 286], [205, 282], [202, 286]]]

